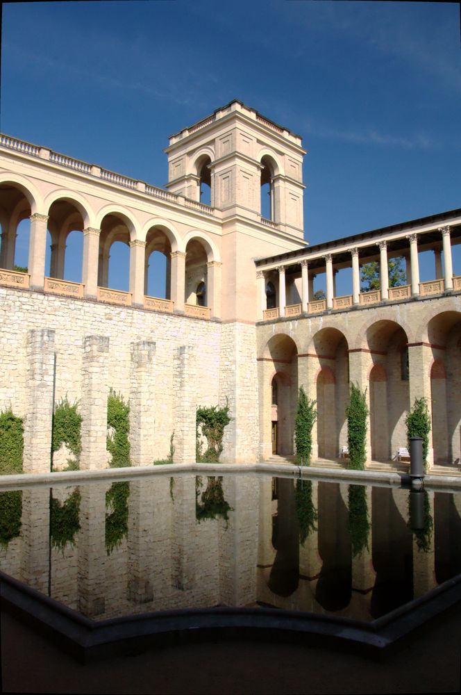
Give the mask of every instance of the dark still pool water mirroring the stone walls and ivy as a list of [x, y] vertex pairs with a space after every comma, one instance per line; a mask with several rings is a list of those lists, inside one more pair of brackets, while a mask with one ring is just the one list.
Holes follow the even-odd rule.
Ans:
[[371, 621], [461, 573], [461, 494], [239, 474], [0, 493], [0, 569], [95, 620], [215, 606]]

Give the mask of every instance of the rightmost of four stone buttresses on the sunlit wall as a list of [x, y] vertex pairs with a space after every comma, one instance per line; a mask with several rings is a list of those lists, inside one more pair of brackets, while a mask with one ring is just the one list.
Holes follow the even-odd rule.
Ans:
[[190, 345], [181, 345], [174, 351], [174, 446], [178, 464], [195, 461], [196, 386], [195, 354]]

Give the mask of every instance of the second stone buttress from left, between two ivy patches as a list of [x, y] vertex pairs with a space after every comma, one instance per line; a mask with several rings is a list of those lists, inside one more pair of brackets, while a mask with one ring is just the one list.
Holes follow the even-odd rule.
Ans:
[[109, 338], [83, 338], [82, 471], [108, 468], [106, 449]]

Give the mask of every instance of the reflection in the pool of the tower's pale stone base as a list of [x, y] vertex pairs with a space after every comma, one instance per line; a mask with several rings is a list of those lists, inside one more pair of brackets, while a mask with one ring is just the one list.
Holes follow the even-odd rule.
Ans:
[[221, 603], [242, 606], [256, 600], [258, 482], [254, 474], [232, 475], [224, 477], [222, 485], [233, 512], [228, 525], [219, 522]]

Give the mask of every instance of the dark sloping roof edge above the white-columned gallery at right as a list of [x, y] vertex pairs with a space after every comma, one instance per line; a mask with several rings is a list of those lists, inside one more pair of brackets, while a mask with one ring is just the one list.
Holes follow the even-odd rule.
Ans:
[[306, 249], [299, 249], [296, 251], [288, 251], [285, 254], [277, 254], [276, 256], [267, 256], [266, 258], [261, 258], [255, 261], [255, 265], [266, 265], [267, 263], [274, 263], [277, 259], [296, 259], [298, 256], [305, 256], [308, 254], [315, 254], [319, 251], [327, 251], [335, 246], [343, 246], [344, 244], [353, 246], [354, 243], [359, 241], [366, 241], [367, 238], [370, 240], [378, 235], [391, 234], [394, 231], [405, 231], [406, 229], [414, 229], [414, 227], [422, 227], [424, 224], [430, 224], [432, 222], [445, 222], [446, 218], [461, 217], [461, 208], [455, 208], [454, 210], [447, 210], [444, 213], [436, 213], [435, 215], [428, 215], [424, 218], [418, 218], [417, 220], [408, 220], [408, 222], [399, 222], [399, 224], [390, 224], [389, 227], [378, 227], [378, 229], [371, 229], [369, 231], [363, 231], [361, 234], [354, 234], [353, 236], [344, 236], [339, 239], [332, 239], [321, 244], [316, 244], [314, 246], [308, 246]]

